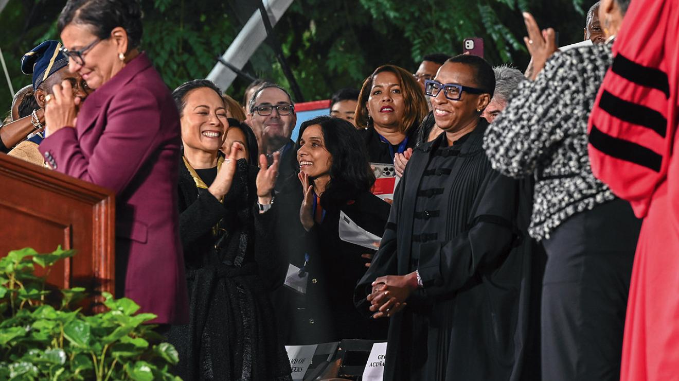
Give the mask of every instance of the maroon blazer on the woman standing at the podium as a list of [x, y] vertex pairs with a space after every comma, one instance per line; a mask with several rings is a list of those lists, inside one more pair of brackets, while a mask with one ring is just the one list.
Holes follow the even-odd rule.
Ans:
[[177, 107], [141, 54], [88, 96], [75, 128], [39, 147], [52, 169], [115, 191], [116, 297], [157, 314], [153, 323], [187, 323], [189, 316], [177, 212], [180, 145]]

